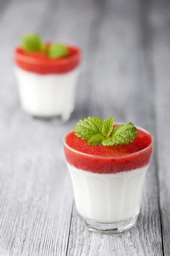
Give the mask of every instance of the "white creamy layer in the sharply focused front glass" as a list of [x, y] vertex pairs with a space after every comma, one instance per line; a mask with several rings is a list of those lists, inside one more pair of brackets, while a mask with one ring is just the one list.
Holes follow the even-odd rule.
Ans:
[[138, 214], [148, 166], [129, 172], [98, 174], [67, 165], [77, 211], [84, 218], [115, 223]]

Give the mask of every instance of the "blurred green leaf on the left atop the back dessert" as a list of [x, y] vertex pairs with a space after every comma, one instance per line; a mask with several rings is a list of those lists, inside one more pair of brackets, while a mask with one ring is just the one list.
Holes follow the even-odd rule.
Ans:
[[40, 37], [36, 34], [28, 34], [21, 39], [22, 47], [29, 52], [39, 52], [45, 49], [45, 44]]

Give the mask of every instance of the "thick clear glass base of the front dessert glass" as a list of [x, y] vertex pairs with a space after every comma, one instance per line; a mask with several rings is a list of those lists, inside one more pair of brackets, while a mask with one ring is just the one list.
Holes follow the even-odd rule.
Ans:
[[133, 216], [132, 218], [128, 219], [127, 221], [120, 221], [116, 223], [100, 223], [97, 221], [91, 221], [87, 218], [82, 217], [79, 215], [79, 218], [83, 221], [83, 224], [88, 230], [103, 233], [103, 234], [113, 234], [113, 233], [122, 233], [125, 230], [130, 229], [136, 223], [138, 218], [139, 212]]

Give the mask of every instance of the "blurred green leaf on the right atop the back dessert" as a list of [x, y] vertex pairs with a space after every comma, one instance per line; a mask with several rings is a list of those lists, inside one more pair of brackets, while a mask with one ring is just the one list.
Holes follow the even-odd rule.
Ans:
[[48, 57], [50, 58], [62, 58], [69, 54], [68, 48], [64, 44], [51, 44], [48, 49]]

